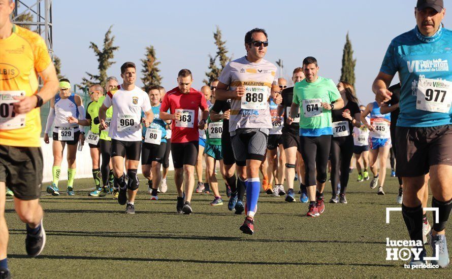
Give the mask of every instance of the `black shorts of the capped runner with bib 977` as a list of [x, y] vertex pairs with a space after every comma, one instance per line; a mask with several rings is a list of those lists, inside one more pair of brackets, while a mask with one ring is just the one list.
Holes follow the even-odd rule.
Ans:
[[430, 166], [452, 165], [452, 125], [396, 127], [396, 175], [426, 175]]

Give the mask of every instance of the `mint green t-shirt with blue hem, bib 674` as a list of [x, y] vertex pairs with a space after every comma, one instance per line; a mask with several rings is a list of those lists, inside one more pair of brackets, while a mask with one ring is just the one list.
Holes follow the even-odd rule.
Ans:
[[293, 102], [300, 106], [300, 135], [333, 134], [331, 111], [323, 109], [321, 102], [332, 103], [340, 97], [341, 94], [330, 79], [318, 77], [311, 83], [306, 80], [297, 82]]

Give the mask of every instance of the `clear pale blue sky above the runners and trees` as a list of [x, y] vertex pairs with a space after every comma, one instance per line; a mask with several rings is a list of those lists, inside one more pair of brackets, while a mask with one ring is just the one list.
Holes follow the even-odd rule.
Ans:
[[[362, 103], [373, 100], [371, 84], [391, 40], [415, 26], [416, 0], [317, 0], [317, 1], [53, 1], [54, 52], [61, 59], [62, 74], [80, 83], [85, 72], [97, 73], [97, 60], [89, 42], [102, 46], [110, 25], [115, 36], [114, 64], [108, 71], [119, 77], [125, 61], [137, 64], [145, 47], [153, 45], [161, 62], [163, 86], [176, 86], [181, 68], [193, 73], [199, 89], [216, 51], [212, 32], [218, 25], [234, 58], [245, 54], [243, 40], [253, 27], [269, 35], [266, 59], [284, 62], [290, 77], [306, 56], [317, 58], [319, 75], [338, 82], [342, 49], [349, 32], [356, 65], [356, 90]], [[447, 2], [446, 2], [447, 5]], [[447, 6], [446, 6], [447, 8]], [[443, 23], [452, 26], [452, 16]], [[141, 75], [139, 74], [138, 78]], [[141, 85], [141, 81], [138, 81]]]

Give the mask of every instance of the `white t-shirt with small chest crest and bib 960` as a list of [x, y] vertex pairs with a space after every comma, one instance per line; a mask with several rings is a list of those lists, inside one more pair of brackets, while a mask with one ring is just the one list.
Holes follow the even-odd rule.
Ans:
[[113, 106], [108, 136], [124, 142], [141, 142], [141, 111], [152, 109], [148, 94], [139, 87], [126, 91], [118, 85], [107, 92], [104, 105]]

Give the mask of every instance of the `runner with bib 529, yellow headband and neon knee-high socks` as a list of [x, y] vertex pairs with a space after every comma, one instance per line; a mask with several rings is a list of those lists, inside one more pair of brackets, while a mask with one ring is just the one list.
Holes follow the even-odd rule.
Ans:
[[[50, 111], [44, 134], [44, 142], [49, 144], [49, 132], [53, 127], [53, 167], [52, 185], [47, 186], [47, 193], [59, 196], [58, 181], [61, 174], [61, 161], [64, 147], [68, 145], [68, 188], [66, 194], [74, 196], [74, 178], [76, 173], [77, 144], [83, 145], [85, 132], [80, 131], [77, 123], [70, 123], [71, 116], [76, 119], [85, 119], [85, 108], [82, 98], [71, 92], [71, 83], [68, 79], [59, 81], [59, 94], [50, 101]], [[80, 143], [79, 143], [80, 142]]]

